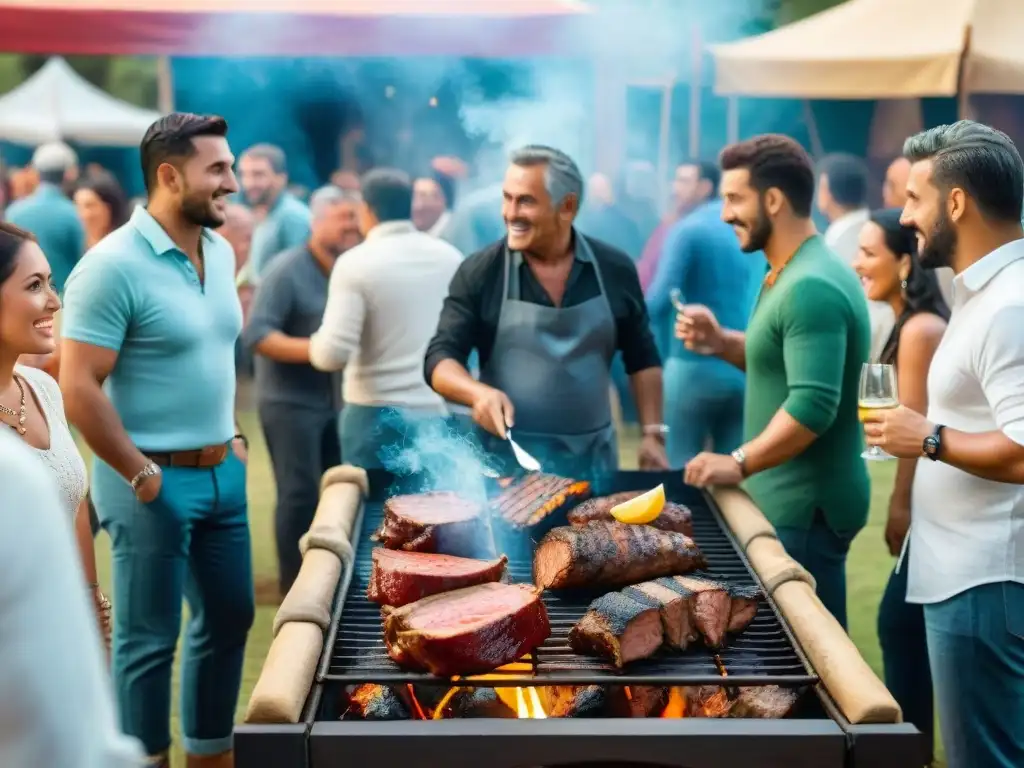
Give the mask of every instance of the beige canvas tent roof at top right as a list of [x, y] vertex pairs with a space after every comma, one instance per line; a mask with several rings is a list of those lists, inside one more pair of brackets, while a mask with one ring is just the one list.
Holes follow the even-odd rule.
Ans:
[[799, 98], [1024, 93], [1024, 0], [849, 0], [712, 48], [719, 93]]

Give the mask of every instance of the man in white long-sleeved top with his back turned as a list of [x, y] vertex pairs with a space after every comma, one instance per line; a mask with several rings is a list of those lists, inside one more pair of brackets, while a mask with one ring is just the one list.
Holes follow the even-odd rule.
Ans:
[[335, 265], [309, 339], [313, 368], [344, 369], [341, 456], [368, 469], [384, 466], [382, 452], [401, 442], [410, 422], [447, 413], [423, 380], [423, 358], [462, 254], [419, 231], [412, 215], [406, 174], [382, 168], [364, 177], [366, 242]]

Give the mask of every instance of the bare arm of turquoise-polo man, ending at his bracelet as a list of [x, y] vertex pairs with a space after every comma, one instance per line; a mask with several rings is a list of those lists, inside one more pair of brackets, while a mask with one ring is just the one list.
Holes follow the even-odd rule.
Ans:
[[131, 441], [102, 389], [118, 353], [71, 339], [65, 339], [62, 347], [60, 391], [68, 421], [96, 456], [130, 482], [150, 460]]

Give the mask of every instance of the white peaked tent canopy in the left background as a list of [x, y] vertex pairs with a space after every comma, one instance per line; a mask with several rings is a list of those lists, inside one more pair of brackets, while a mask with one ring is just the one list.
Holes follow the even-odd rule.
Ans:
[[54, 56], [0, 96], [0, 139], [33, 145], [65, 140], [134, 146], [159, 117], [105, 93]]

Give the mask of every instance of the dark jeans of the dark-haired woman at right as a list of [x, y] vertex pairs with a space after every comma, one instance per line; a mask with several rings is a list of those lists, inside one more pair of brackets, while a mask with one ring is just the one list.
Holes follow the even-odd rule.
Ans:
[[935, 744], [935, 697], [932, 671], [928, 666], [925, 609], [906, 601], [909, 550], [900, 572], [889, 575], [879, 605], [879, 642], [886, 687], [903, 710], [903, 720], [912, 723], [928, 741], [928, 762]]

